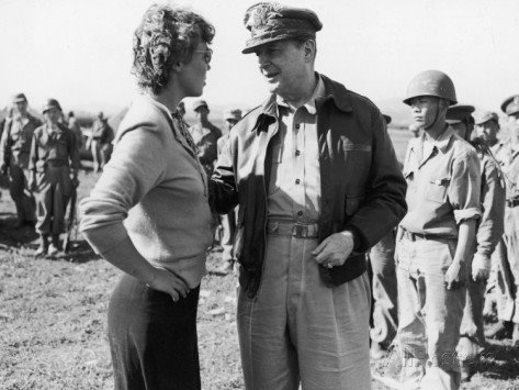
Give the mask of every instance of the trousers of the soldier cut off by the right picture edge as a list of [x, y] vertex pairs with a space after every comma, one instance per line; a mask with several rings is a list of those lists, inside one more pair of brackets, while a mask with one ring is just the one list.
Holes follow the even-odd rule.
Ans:
[[497, 317], [519, 323], [519, 207], [505, 209], [505, 234], [496, 247]]

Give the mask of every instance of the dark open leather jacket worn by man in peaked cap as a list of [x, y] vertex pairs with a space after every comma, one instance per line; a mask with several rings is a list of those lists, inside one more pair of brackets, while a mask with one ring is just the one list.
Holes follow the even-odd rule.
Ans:
[[[317, 137], [321, 182], [319, 242], [352, 231], [354, 252], [342, 266], [319, 267], [329, 286], [365, 271], [364, 252], [386, 235], [406, 213], [404, 180], [385, 121], [366, 98], [321, 76], [326, 94], [318, 99]], [[272, 143], [278, 135], [275, 96], [236, 124], [210, 181], [210, 202], [225, 214], [238, 209], [235, 256], [239, 281], [253, 298], [266, 252], [267, 188]]]

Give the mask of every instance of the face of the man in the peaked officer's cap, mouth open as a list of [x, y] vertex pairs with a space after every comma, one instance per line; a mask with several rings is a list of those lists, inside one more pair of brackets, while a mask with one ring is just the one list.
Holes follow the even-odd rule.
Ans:
[[284, 97], [298, 89], [307, 74], [304, 45], [300, 47], [293, 41], [278, 41], [258, 46], [255, 53], [271, 93]]

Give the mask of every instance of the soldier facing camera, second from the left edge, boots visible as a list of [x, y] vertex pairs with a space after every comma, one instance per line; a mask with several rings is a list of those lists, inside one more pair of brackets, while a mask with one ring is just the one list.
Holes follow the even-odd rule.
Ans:
[[34, 131], [32, 140], [30, 186], [36, 193], [36, 232], [40, 234], [36, 255], [53, 256], [59, 252], [59, 234], [65, 232], [68, 200], [79, 185], [79, 152], [75, 133], [59, 123], [59, 102], [48, 99], [42, 113], [45, 124]]

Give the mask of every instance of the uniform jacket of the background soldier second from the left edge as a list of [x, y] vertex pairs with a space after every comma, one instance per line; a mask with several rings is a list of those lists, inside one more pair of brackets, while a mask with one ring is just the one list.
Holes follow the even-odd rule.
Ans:
[[43, 172], [47, 165], [79, 168], [76, 135], [61, 123], [55, 129], [44, 124], [34, 131], [29, 168]]

